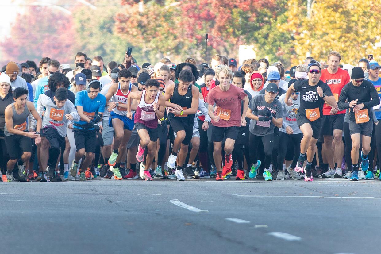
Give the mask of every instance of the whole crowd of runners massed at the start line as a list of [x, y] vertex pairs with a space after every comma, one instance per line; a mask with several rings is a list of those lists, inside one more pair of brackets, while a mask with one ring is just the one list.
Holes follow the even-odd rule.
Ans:
[[340, 62], [8, 62], [1, 181], [381, 180], [381, 67]]

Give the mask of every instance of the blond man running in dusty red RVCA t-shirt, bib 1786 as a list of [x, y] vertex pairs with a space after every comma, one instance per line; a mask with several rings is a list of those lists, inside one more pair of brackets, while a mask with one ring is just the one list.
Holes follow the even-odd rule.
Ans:
[[[240, 115], [241, 101], [244, 101], [243, 112], [247, 111], [249, 99], [242, 88], [231, 85], [233, 73], [226, 65], [215, 68], [219, 85], [211, 89], [207, 96], [208, 115], [212, 123], [212, 136], [214, 151], [213, 158], [217, 166], [216, 181], [223, 181], [223, 178], [232, 173], [232, 150], [237, 139], [240, 126], [246, 126], [245, 115]], [[214, 110], [215, 104], [217, 109]], [[224, 144], [225, 163], [222, 163], [222, 141], [226, 137]]]

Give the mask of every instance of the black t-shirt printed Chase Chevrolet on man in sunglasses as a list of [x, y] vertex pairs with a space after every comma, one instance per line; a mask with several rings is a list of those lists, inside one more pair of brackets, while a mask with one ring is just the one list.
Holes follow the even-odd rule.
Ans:
[[331, 88], [321, 80], [315, 86], [310, 86], [308, 80], [298, 80], [293, 85], [294, 89], [300, 92], [299, 113], [306, 117], [306, 109], [319, 108], [320, 117], [322, 117], [324, 99], [319, 96], [316, 89], [320, 86], [326, 96], [333, 96]]

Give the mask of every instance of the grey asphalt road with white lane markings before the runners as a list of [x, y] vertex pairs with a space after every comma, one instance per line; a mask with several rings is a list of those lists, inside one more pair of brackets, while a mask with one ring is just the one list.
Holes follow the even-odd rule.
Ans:
[[0, 253], [380, 253], [381, 181], [0, 182]]

